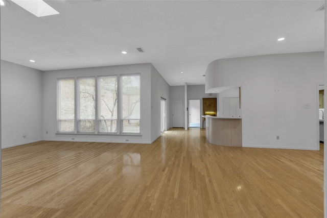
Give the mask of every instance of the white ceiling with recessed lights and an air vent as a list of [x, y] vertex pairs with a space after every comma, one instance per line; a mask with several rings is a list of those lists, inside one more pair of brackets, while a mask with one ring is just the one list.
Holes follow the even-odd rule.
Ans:
[[152, 63], [172, 86], [204, 84], [217, 59], [324, 50], [324, 1], [57, 0], [39, 18], [8, 2], [1, 59], [40, 70]]

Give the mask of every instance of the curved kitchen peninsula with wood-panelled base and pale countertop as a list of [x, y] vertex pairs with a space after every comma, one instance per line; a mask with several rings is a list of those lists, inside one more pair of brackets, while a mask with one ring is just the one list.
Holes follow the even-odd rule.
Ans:
[[206, 118], [205, 137], [218, 146], [242, 147], [241, 117], [202, 116]]

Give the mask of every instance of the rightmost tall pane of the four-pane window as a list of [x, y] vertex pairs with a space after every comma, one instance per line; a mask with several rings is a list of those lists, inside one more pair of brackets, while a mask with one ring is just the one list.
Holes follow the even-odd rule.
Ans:
[[122, 131], [139, 133], [140, 76], [122, 76]]

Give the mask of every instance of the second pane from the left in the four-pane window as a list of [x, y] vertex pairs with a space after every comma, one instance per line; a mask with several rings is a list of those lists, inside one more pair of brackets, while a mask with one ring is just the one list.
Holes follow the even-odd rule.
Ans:
[[95, 78], [78, 79], [78, 130], [95, 132], [96, 122], [96, 80]]

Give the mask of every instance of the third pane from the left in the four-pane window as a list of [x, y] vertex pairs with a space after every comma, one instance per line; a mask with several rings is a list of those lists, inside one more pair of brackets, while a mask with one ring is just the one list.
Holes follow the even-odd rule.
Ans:
[[117, 132], [117, 77], [100, 77], [100, 132]]

